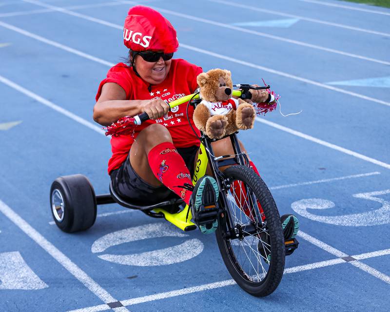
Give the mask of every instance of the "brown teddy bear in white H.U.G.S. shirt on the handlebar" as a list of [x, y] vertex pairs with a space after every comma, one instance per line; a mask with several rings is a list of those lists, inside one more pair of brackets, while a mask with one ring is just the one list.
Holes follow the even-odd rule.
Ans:
[[224, 69], [201, 73], [196, 81], [202, 101], [194, 111], [196, 128], [212, 139], [219, 139], [238, 129], [252, 129], [256, 116], [254, 107], [242, 99], [232, 98], [232, 74]]

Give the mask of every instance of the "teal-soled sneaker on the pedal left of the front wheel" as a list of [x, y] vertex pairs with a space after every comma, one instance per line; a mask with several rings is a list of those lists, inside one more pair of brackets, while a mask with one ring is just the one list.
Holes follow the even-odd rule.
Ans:
[[214, 233], [218, 227], [218, 184], [212, 176], [202, 176], [190, 198], [191, 213], [203, 234]]

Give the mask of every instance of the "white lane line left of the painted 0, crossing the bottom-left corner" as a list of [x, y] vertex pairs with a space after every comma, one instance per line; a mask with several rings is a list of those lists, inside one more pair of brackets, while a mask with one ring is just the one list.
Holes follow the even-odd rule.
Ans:
[[[87, 273], [82, 271], [77, 264], [69, 259], [65, 254], [61, 253], [56, 246], [50, 243], [45, 237], [43, 237], [37, 230], [35, 230], [30, 224], [8, 207], [3, 201], [0, 200], [0, 212], [10, 219], [17, 227], [20, 228], [25, 234], [33, 239], [40, 247], [43, 248], [48, 254], [56, 259], [66, 270], [75, 276], [86, 288], [93, 292], [100, 300], [105, 303], [117, 302], [110, 293], [103, 289], [95, 280], [93, 280]], [[107, 309], [107, 305], [106, 310]], [[109, 307], [108, 307], [109, 308]], [[128, 311], [126, 308], [114, 309], [115, 311]]]

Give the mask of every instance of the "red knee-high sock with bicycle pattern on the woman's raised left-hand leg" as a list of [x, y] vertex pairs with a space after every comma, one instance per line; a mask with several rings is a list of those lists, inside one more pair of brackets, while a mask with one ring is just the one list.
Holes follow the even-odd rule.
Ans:
[[190, 172], [171, 142], [164, 142], [152, 148], [148, 154], [149, 166], [153, 174], [167, 188], [189, 204], [192, 191], [183, 188], [184, 183], [192, 185]]

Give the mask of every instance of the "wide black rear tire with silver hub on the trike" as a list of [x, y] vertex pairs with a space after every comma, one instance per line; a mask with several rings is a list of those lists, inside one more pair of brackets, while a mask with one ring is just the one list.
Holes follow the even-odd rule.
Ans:
[[83, 175], [58, 177], [50, 188], [50, 208], [62, 231], [73, 233], [89, 229], [97, 213], [91, 182]]

